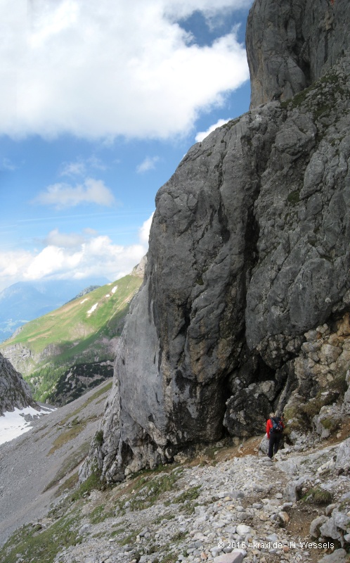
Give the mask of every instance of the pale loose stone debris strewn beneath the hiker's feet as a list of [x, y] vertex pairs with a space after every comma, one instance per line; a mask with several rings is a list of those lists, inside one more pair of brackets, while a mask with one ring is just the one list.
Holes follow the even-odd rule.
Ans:
[[[337, 459], [342, 445], [309, 444], [299, 463], [297, 446], [303, 439], [280, 450], [276, 462], [246, 455], [213, 465], [179, 464], [146, 474], [141, 488], [131, 476], [108, 493], [113, 514], [97, 523], [89, 515], [98, 502], [106, 502], [107, 493], [93, 491], [77, 525], [77, 545], [61, 551], [54, 563], [346, 562], [350, 477], [338, 474], [334, 463], [322, 476], [317, 471]], [[174, 486], [153, 503], [165, 478]], [[299, 486], [297, 498], [290, 500], [293, 479]], [[328, 491], [332, 503], [309, 503], [308, 494], [316, 488]], [[305, 514], [303, 527], [297, 528]]]

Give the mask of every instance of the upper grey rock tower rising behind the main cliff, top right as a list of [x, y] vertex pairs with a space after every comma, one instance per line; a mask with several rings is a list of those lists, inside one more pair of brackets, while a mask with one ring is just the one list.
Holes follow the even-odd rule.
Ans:
[[292, 98], [349, 48], [348, 0], [257, 0], [249, 13], [251, 107]]

